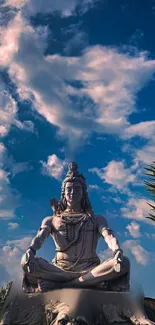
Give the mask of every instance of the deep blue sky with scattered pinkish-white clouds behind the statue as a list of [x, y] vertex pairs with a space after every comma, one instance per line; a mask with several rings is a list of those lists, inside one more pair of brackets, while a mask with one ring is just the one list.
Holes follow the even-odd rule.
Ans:
[[[155, 297], [143, 184], [155, 160], [155, 2], [1, 0], [0, 17], [1, 284], [21, 276], [75, 160], [131, 260], [132, 287]], [[109, 257], [103, 240], [98, 253]], [[38, 255], [52, 260], [52, 239]]]

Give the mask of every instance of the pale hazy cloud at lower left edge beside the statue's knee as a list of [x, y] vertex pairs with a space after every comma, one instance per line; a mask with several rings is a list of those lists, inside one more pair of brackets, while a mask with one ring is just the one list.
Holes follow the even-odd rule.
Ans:
[[0, 249], [0, 264], [5, 267], [10, 280], [20, 279], [23, 271], [21, 268], [21, 257], [31, 243], [32, 237], [21, 240], [7, 241]]

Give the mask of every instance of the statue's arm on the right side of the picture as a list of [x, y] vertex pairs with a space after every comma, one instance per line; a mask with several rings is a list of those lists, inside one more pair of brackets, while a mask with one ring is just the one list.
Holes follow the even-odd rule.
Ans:
[[106, 218], [103, 216], [97, 216], [96, 219], [98, 232], [100, 236], [104, 238], [105, 242], [107, 243], [108, 247], [113, 251], [114, 255], [118, 251], [122, 251], [113, 231], [108, 226]]

